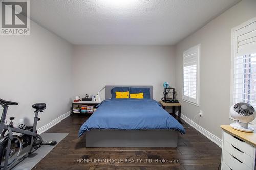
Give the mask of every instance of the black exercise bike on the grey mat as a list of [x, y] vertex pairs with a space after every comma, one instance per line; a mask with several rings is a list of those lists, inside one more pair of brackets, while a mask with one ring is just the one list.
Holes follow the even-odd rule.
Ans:
[[[0, 99], [0, 105], [4, 108], [0, 119], [0, 169], [11, 169], [19, 162], [28, 157], [42, 145], [56, 145], [56, 141], [44, 142], [42, 137], [37, 134], [36, 125], [38, 113], [46, 109], [45, 103], [36, 103], [32, 105], [35, 109], [33, 126], [19, 125], [19, 128], [13, 126], [14, 117], [10, 117], [10, 123], [7, 125], [6, 114], [10, 105], [18, 105], [16, 102], [5, 101]], [[5, 124], [6, 122], [6, 124]], [[13, 134], [18, 133], [18, 135]]]

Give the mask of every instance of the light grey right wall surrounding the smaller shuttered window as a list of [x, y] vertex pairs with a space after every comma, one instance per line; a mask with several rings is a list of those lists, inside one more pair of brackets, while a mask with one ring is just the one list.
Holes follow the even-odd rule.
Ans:
[[175, 86], [180, 101], [183, 51], [201, 44], [200, 107], [181, 101], [182, 114], [193, 119], [203, 110], [199, 125], [219, 138], [220, 125], [230, 123], [231, 29], [255, 17], [255, 9], [256, 1], [241, 1], [177, 44]]

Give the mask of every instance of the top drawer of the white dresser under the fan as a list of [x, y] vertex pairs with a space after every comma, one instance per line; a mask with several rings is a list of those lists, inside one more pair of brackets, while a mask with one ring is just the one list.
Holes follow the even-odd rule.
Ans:
[[240, 151], [246, 153], [247, 155], [249, 155], [250, 157], [253, 157], [254, 153], [253, 153], [253, 147], [252, 145], [244, 142], [243, 140], [228, 134], [226, 132], [224, 133], [224, 140], [227, 141], [228, 143], [230, 143], [231, 145], [233, 145], [234, 147], [238, 148]]

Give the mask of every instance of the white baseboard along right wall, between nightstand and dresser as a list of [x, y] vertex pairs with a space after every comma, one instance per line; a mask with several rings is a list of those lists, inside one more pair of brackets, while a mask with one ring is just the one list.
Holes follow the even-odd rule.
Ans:
[[200, 132], [201, 134], [203, 134], [205, 137], [207, 137], [208, 139], [210, 139], [212, 142], [214, 142], [215, 144], [217, 144], [220, 148], [222, 148], [222, 140], [215, 136], [214, 134], [210, 133], [209, 131], [207, 131], [206, 129], [204, 129], [203, 127], [201, 127], [200, 125], [198, 125], [197, 123], [193, 122], [191, 119], [189, 119], [188, 117], [186, 117], [185, 115], [181, 114], [181, 118], [188, 123], [189, 125], [191, 125], [191, 127], [195, 128], [198, 132]]

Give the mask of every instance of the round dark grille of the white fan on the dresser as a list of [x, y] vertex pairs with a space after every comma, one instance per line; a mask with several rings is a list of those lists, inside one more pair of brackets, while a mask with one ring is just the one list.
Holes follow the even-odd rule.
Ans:
[[234, 105], [234, 111], [243, 116], [250, 116], [254, 113], [254, 108], [248, 103], [237, 103]]

